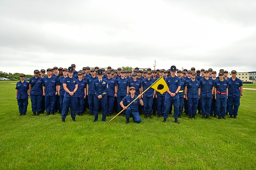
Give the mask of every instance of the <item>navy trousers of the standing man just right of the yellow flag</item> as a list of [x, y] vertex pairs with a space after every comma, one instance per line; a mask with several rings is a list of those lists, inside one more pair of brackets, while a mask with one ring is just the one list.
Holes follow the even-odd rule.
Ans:
[[179, 99], [173, 99], [172, 97], [169, 98], [169, 99], [166, 99], [165, 98], [165, 101], [164, 101], [164, 115], [163, 115], [163, 118], [168, 118], [168, 115], [169, 115], [169, 111], [170, 111], [170, 107], [171, 107], [171, 104], [173, 105], [173, 110], [174, 110], [174, 118], [177, 119], [178, 118], [178, 115], [179, 115]]

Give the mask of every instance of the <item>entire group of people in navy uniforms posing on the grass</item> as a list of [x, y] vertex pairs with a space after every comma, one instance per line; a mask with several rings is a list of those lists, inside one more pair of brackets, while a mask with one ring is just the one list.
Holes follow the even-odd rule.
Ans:
[[[98, 120], [100, 108], [102, 121], [106, 121], [106, 116], [111, 116], [116, 110], [115, 103], [118, 113], [124, 109], [120, 115], [125, 115], [126, 123], [130, 122], [130, 117], [134, 122], [141, 122], [141, 113], [144, 113], [144, 118], [152, 118], [152, 111], [153, 115], [157, 111], [158, 118], [163, 116], [163, 122], [166, 122], [168, 115], [172, 115], [172, 107], [175, 123], [179, 123], [178, 118], [182, 113], [195, 119], [197, 110], [202, 114], [202, 119], [210, 119], [210, 116], [225, 119], [228, 113], [230, 118], [237, 118], [243, 96], [243, 84], [236, 77], [235, 70], [228, 78], [228, 71], [223, 69], [216, 77], [217, 73], [212, 69], [195, 71], [193, 67], [183, 71], [175, 66], [169, 70], [148, 68], [142, 71], [135, 68], [132, 71], [121, 68], [113, 70], [109, 66], [106, 72], [98, 67], [83, 67], [81, 72], [75, 68], [75, 64], [68, 69], [49, 68], [46, 76], [45, 70], [34, 70], [34, 77], [29, 83], [24, 81], [25, 74], [20, 74], [20, 81], [16, 85], [20, 116], [26, 115], [30, 98], [33, 116], [43, 114], [44, 110], [46, 115], [59, 111], [62, 122], [65, 122], [69, 109], [75, 121], [76, 115], [82, 115], [87, 107], [90, 115], [94, 115], [94, 122]], [[163, 94], [148, 88], [160, 76], [163, 76], [169, 88]]]

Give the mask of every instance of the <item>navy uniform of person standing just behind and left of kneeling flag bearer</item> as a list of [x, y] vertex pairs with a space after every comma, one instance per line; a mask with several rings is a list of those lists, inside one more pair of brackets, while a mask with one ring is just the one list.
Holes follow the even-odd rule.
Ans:
[[117, 110], [120, 112], [123, 108], [120, 105], [120, 102], [127, 96], [127, 87], [129, 87], [129, 80], [126, 78], [117, 79]]

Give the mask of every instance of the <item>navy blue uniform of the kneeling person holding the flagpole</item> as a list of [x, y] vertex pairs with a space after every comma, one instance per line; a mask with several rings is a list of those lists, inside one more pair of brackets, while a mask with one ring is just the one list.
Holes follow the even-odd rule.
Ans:
[[[134, 95], [132, 98], [131, 95], [125, 96], [124, 99], [122, 99], [124, 106], [129, 105], [134, 99], [136, 99], [138, 96]], [[139, 99], [135, 100], [129, 107], [125, 110], [125, 118], [130, 119], [132, 117], [132, 120], [136, 123], [141, 122], [141, 118], [139, 117], [138, 107], [140, 105]]]

